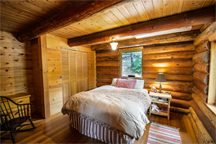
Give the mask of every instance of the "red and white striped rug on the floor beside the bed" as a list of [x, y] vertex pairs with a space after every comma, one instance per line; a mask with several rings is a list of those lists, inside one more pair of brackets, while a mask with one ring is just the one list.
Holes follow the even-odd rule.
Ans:
[[173, 127], [151, 123], [147, 144], [181, 144], [179, 130]]

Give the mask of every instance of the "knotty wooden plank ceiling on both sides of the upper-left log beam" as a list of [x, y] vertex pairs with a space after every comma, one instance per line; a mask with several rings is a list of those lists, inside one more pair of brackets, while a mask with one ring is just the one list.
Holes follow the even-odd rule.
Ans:
[[[20, 33], [77, 0], [0, 0], [0, 30]], [[216, 5], [216, 0], [134, 0], [108, 8], [50, 34], [74, 38]], [[200, 29], [201, 25], [193, 29]]]

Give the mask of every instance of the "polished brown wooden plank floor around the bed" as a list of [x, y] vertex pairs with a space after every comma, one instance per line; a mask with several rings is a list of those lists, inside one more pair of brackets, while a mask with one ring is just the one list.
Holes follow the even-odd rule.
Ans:
[[[160, 116], [148, 116], [151, 122], [180, 128], [180, 135], [183, 144], [198, 144], [196, 136], [186, 115], [171, 113], [171, 120]], [[99, 140], [81, 135], [77, 130], [70, 128], [68, 115], [58, 113], [48, 119], [34, 120], [37, 127], [28, 132], [15, 134], [17, 144], [102, 144]], [[146, 126], [146, 131], [135, 144], [146, 144], [150, 124]], [[6, 134], [8, 135], [8, 134]], [[0, 140], [2, 144], [12, 144], [11, 140]]]

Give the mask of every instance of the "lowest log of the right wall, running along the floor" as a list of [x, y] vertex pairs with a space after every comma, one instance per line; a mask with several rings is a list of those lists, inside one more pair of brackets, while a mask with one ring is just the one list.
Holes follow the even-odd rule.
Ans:
[[190, 107], [189, 111], [190, 111], [192, 118], [194, 119], [194, 122], [195, 122], [198, 130], [201, 132], [202, 136], [204, 137], [205, 143], [214, 143], [213, 139], [209, 135], [208, 131], [206, 130], [206, 128], [204, 127], [204, 125], [202, 124], [200, 119], [198, 118], [194, 109], [192, 107]]

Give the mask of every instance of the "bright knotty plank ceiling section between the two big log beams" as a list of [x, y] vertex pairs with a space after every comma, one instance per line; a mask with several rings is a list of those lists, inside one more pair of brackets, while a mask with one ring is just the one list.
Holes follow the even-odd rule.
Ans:
[[213, 5], [216, 5], [216, 0], [134, 0], [53, 31], [51, 34], [74, 38]]

